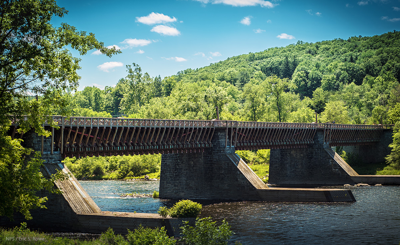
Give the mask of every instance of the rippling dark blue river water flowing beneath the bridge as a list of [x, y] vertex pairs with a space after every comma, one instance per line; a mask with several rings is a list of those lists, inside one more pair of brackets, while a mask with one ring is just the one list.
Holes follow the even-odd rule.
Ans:
[[[156, 213], [172, 201], [119, 197], [122, 193], [158, 191], [159, 181], [79, 181], [102, 211]], [[335, 186], [335, 188], [342, 188]], [[351, 189], [352, 203], [199, 201], [202, 217], [226, 219], [231, 242], [265, 244], [396, 244], [400, 242], [400, 187]]]

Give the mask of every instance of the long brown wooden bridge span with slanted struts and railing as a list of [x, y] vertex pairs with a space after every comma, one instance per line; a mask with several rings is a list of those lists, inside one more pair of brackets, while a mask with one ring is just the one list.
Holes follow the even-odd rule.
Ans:
[[[22, 137], [12, 119], [10, 135]], [[317, 130], [329, 146], [368, 145], [379, 141], [392, 125], [332, 123], [239, 122], [228, 120], [159, 120], [130, 118], [84, 118], [52, 116], [58, 128], [52, 131], [53, 151], [65, 156], [122, 155], [199, 152], [212, 147], [216, 129], [225, 131], [225, 147], [242, 149], [302, 148], [314, 143]], [[43, 148], [42, 148], [43, 151]]]

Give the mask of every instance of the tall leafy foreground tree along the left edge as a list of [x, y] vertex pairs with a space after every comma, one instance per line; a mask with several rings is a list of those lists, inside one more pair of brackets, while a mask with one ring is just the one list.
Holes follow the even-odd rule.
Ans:
[[[54, 0], [4, 0], [0, 4], [0, 215], [10, 218], [18, 210], [30, 219], [29, 209], [44, 207], [46, 201], [37, 197], [36, 191], [44, 187], [52, 191], [53, 183], [40, 173], [40, 153], [32, 155], [19, 140], [7, 136], [7, 115], [27, 115], [18, 131], [33, 128], [39, 135], [49, 136], [42, 127], [45, 115], [65, 102], [52, 98], [75, 89], [80, 79], [76, 72], [80, 59], [67, 47], [81, 55], [92, 49], [107, 56], [120, 52], [106, 48], [92, 33], [86, 35], [65, 23], [58, 28], [50, 24], [53, 16], [64, 14], [67, 11]], [[49, 88], [55, 93], [48, 93]], [[40, 103], [29, 100], [28, 94], [48, 97]]]

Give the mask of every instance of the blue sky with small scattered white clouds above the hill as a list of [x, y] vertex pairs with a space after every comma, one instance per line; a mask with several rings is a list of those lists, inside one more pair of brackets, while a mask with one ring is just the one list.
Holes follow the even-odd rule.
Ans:
[[58, 0], [63, 18], [122, 54], [96, 50], [82, 59], [80, 87], [114, 86], [139, 64], [150, 76], [171, 76], [228, 57], [272, 47], [400, 30], [400, 0]]

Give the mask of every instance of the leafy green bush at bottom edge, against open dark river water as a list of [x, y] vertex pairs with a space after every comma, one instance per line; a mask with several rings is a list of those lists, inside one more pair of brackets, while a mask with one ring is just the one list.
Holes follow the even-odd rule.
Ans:
[[182, 229], [182, 240], [187, 245], [226, 245], [232, 235], [230, 225], [224, 220], [222, 225], [216, 226], [216, 222], [211, 217], [197, 218], [194, 227], [185, 221]]

